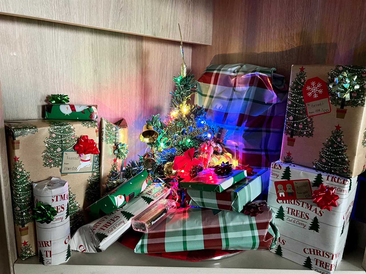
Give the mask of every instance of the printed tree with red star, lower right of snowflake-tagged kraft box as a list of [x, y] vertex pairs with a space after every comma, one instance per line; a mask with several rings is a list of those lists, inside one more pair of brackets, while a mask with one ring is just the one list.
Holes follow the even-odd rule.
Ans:
[[323, 143], [323, 148], [319, 152], [318, 160], [313, 162], [314, 168], [327, 173], [337, 174], [343, 177], [350, 177], [350, 161], [347, 156], [347, 145], [343, 142], [343, 131], [338, 124], [332, 130], [329, 138]]

